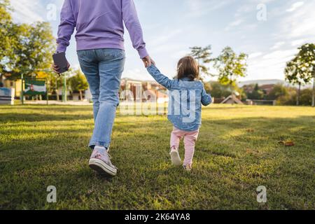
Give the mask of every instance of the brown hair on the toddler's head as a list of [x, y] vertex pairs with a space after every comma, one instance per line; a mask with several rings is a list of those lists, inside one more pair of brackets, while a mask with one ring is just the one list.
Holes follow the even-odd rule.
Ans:
[[177, 78], [189, 78], [191, 81], [200, 78], [199, 65], [197, 61], [191, 57], [186, 56], [179, 60], [177, 64]]

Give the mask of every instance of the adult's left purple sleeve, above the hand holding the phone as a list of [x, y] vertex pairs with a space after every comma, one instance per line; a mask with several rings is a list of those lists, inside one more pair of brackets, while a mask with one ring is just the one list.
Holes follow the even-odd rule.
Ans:
[[60, 25], [58, 28], [57, 52], [65, 52], [70, 44], [71, 35], [76, 27], [70, 0], [65, 0], [60, 13]]

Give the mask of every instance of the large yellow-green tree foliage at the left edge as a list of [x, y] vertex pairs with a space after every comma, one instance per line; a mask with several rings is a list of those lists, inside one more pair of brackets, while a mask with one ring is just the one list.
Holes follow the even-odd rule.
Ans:
[[0, 74], [10, 79], [31, 76], [49, 69], [54, 37], [48, 22], [15, 24], [10, 16], [8, 0], [0, 0]]

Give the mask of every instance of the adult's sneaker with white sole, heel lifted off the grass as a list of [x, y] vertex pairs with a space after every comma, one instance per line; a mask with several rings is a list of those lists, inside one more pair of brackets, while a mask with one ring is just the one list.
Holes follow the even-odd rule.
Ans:
[[111, 156], [106, 150], [100, 153], [95, 148], [91, 155], [89, 166], [99, 174], [106, 176], [116, 176], [117, 174], [117, 168], [111, 163]]

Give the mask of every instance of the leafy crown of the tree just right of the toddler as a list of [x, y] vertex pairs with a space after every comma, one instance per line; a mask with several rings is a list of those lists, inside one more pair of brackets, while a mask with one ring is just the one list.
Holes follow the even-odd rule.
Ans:
[[237, 55], [232, 48], [226, 47], [215, 59], [214, 67], [218, 70], [218, 80], [223, 85], [236, 85], [237, 78], [245, 77], [247, 71], [246, 59], [248, 55], [241, 52]]

